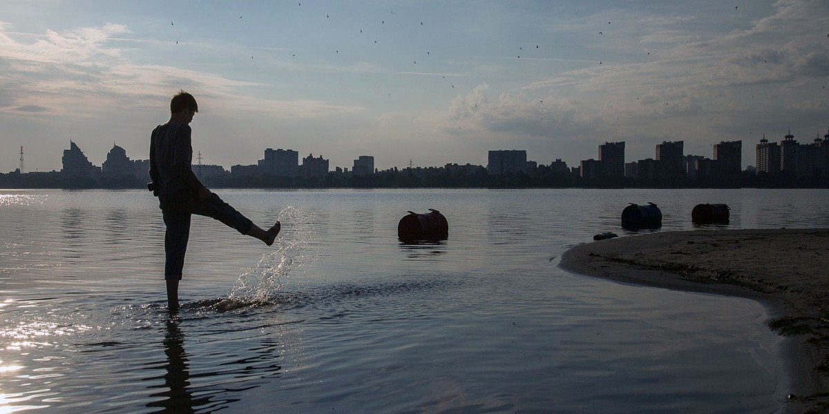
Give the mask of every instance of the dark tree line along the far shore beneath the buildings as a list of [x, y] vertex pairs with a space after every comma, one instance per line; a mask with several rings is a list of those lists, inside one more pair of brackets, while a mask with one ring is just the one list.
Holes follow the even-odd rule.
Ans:
[[[825, 177], [768, 175], [742, 171], [732, 177], [699, 177], [691, 180], [637, 180], [631, 177], [587, 179], [570, 172], [538, 166], [531, 173], [516, 172], [502, 176], [487, 174], [480, 166], [473, 172], [450, 171], [444, 167], [392, 168], [366, 176], [329, 172], [327, 176], [303, 178], [287, 176], [206, 176], [202, 182], [212, 188], [827, 188]], [[146, 188], [146, 180], [136, 176], [101, 176], [98, 179], [71, 176], [58, 171], [21, 174], [0, 173], [0, 188], [133, 189]]]

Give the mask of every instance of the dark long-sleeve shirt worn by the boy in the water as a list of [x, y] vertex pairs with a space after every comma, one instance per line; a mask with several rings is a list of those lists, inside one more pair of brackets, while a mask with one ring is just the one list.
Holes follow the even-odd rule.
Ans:
[[196, 194], [204, 187], [193, 173], [190, 125], [165, 123], [150, 137], [150, 178], [158, 195]]

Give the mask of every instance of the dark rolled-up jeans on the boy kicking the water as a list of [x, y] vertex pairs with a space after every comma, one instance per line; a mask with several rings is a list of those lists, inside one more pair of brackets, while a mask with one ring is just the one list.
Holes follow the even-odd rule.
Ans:
[[216, 194], [204, 201], [187, 195], [160, 195], [158, 201], [167, 226], [167, 232], [164, 233], [165, 279], [182, 280], [184, 254], [187, 253], [187, 240], [190, 238], [191, 214], [217, 219], [242, 234], [247, 234], [253, 226], [250, 219]]

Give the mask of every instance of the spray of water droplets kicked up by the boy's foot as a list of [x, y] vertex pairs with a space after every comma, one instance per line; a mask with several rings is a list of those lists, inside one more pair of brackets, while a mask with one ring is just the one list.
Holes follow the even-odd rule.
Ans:
[[278, 219], [282, 230], [272, 246], [274, 251], [263, 254], [255, 266], [240, 274], [226, 301], [246, 306], [274, 303], [284, 277], [290, 277], [293, 272], [307, 272], [313, 265], [316, 258], [310, 248], [316, 236], [313, 215], [290, 205], [279, 212]]

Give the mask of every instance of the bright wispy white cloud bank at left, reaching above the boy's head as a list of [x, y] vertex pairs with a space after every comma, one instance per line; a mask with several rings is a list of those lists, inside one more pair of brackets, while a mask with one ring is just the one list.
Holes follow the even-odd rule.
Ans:
[[[60, 33], [46, 31], [34, 41], [12, 39], [0, 25], [0, 68], [7, 81], [0, 84], [5, 104], [0, 112], [53, 113], [76, 117], [106, 117], [114, 108], [158, 107], [178, 89], [200, 92], [215, 99], [222, 113], [269, 113], [310, 117], [315, 113], [360, 110], [313, 99], [279, 101], [240, 93], [263, 86], [259, 82], [228, 79], [169, 65], [138, 65], [122, 57], [110, 44], [113, 35], [130, 32], [126, 26], [86, 27]], [[334, 68], [317, 65], [311, 70], [376, 72], [372, 65]]]

